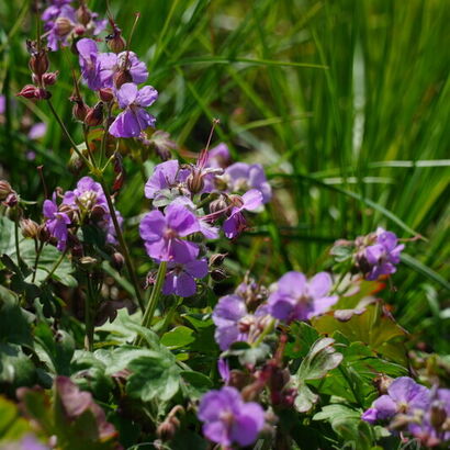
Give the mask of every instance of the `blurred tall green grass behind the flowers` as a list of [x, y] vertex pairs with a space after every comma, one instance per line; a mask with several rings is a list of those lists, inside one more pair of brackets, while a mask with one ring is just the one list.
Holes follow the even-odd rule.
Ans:
[[[27, 200], [41, 191], [40, 164], [50, 189], [76, 182], [66, 169], [69, 145], [46, 104], [14, 100], [30, 82], [33, 4], [0, 3], [0, 88], [12, 105], [0, 128], [0, 173]], [[104, 13], [104, 1], [88, 4]], [[449, 352], [450, 2], [111, 0], [111, 10], [125, 37], [142, 14], [132, 49], [160, 92], [151, 110], [158, 128], [199, 151], [218, 117], [215, 143], [267, 168], [272, 205], [238, 246], [220, 245], [236, 256], [236, 279], [247, 268], [266, 282], [292, 268], [313, 273], [335, 239], [376, 226], [421, 235], [407, 244], [383, 295], [413, 341]], [[60, 70], [53, 102], [77, 135], [67, 100], [77, 58], [66, 49], [50, 59]], [[40, 143], [21, 132], [25, 108], [48, 124]], [[142, 199], [139, 169], [127, 161], [117, 205], [144, 275], [133, 226]]]

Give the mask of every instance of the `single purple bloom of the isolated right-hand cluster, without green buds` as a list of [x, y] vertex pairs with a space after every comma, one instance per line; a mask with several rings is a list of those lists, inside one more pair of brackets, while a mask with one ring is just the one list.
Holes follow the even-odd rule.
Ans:
[[395, 265], [400, 262], [400, 254], [405, 248], [397, 243], [394, 233], [376, 229], [375, 244], [367, 247], [364, 251], [365, 260], [370, 265], [370, 271], [365, 274], [368, 280], [376, 280], [380, 275], [389, 275], [397, 270]]

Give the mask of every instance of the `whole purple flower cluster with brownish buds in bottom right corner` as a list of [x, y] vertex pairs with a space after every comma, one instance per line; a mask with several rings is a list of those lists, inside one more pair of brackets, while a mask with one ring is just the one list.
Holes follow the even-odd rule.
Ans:
[[387, 424], [394, 432], [408, 434], [424, 446], [439, 446], [450, 441], [450, 390], [427, 389], [408, 376], [397, 378], [362, 419]]

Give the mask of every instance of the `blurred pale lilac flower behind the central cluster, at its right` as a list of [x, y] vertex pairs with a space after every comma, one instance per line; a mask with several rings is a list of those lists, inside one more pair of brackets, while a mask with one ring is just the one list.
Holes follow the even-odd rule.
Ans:
[[232, 192], [257, 189], [262, 194], [262, 203], [272, 198], [272, 188], [260, 164], [235, 162], [225, 169], [224, 179]]

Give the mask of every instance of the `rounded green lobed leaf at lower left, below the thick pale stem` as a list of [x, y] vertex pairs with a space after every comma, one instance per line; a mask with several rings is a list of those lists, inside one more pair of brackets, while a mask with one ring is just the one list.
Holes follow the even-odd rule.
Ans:
[[180, 370], [164, 355], [149, 352], [130, 362], [128, 369], [133, 374], [126, 383], [126, 392], [143, 402], [154, 398], [169, 401], [178, 392]]

